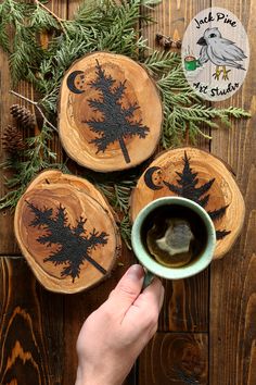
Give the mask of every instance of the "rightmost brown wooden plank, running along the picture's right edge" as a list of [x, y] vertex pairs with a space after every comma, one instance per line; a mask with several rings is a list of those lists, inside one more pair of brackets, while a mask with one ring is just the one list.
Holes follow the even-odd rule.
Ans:
[[[243, 7], [235, 0], [214, 0], [213, 7], [225, 7], [247, 30], [251, 62], [243, 87], [231, 99], [218, 105], [241, 105], [251, 110], [252, 119], [233, 122], [231, 129], [215, 132], [212, 151], [233, 169], [245, 199], [246, 214], [242, 235], [235, 247], [210, 274], [209, 383], [253, 385], [256, 381], [256, 285], [255, 285], [255, 183], [256, 183], [256, 45], [255, 1]], [[215, 288], [218, 288], [217, 290]]]

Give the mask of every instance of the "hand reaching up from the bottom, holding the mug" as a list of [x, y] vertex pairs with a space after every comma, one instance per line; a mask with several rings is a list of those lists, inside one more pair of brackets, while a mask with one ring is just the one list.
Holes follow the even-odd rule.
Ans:
[[164, 287], [154, 278], [141, 293], [143, 278], [143, 268], [132, 265], [84, 323], [77, 339], [76, 385], [120, 385], [155, 334]]

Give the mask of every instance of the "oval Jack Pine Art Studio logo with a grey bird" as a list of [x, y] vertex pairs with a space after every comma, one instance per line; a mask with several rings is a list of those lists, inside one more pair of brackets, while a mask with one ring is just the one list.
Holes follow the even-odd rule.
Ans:
[[208, 8], [190, 22], [181, 57], [187, 80], [195, 92], [207, 100], [225, 100], [238, 91], [245, 79], [248, 38], [233, 13]]

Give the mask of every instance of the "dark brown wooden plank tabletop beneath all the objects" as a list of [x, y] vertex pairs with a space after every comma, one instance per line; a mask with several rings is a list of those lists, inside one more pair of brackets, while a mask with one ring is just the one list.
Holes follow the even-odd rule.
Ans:
[[[71, 17], [78, 3], [53, 0], [51, 7], [61, 17]], [[210, 5], [225, 7], [236, 14], [251, 40], [245, 83], [219, 105], [243, 107], [252, 111], [253, 117], [233, 122], [230, 129], [214, 131], [210, 145], [199, 144], [234, 171], [245, 198], [245, 223], [241, 237], [222, 260], [193, 278], [164, 283], [166, 296], [158, 332], [126, 385], [256, 384], [256, 1], [165, 0], [154, 12], [158, 24], [145, 28], [144, 35], [151, 47], [155, 45], [156, 32], [182, 38], [191, 17]], [[2, 53], [0, 87], [0, 124], [4, 128], [14, 100], [9, 95], [8, 59]], [[31, 96], [25, 84], [20, 86], [20, 92]], [[74, 384], [75, 345], [80, 326], [107, 297], [132, 257], [124, 251], [124, 266], [117, 266], [108, 281], [88, 293], [49, 293], [36, 282], [21, 257], [13, 235], [13, 218], [3, 211], [0, 256], [0, 384]]]

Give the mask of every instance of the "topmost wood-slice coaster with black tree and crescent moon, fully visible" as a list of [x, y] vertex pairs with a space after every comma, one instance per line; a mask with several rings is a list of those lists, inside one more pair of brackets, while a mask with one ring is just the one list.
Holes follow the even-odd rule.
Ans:
[[129, 58], [90, 53], [63, 78], [60, 137], [68, 156], [86, 167], [110, 172], [143, 162], [157, 146], [162, 120], [154, 80]]

